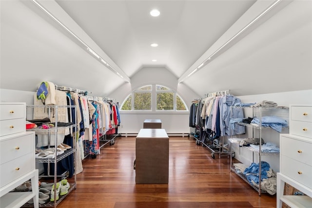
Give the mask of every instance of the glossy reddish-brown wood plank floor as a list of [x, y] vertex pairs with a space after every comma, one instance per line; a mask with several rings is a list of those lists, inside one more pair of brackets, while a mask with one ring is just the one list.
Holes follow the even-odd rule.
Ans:
[[[135, 137], [117, 137], [95, 159], [83, 161], [77, 188], [58, 208], [275, 208], [276, 195], [261, 194], [230, 172], [230, 159], [188, 137], [169, 139], [169, 184], [136, 184]], [[150, 148], [153, 148], [151, 146]], [[157, 161], [155, 161], [157, 163]]]

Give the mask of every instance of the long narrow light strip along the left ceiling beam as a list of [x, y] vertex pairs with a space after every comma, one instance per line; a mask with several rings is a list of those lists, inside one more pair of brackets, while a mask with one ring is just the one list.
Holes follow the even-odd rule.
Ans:
[[114, 70], [119, 77], [123, 79], [123, 76], [121, 76], [116, 69], [114, 69], [110, 64], [108, 64], [104, 59], [102, 59], [95, 51], [93, 51], [85, 42], [83, 42], [75, 33], [73, 33], [70, 29], [68, 29], [62, 22], [60, 22], [54, 15], [52, 15], [48, 10], [46, 10], [37, 0], [32, 0], [33, 3], [35, 3], [40, 9], [42, 9], [49, 17], [51, 17], [54, 21], [58, 22], [59, 25], [61, 25], [67, 32], [69, 32], [72, 36], [74, 36], [79, 42], [81, 42], [87, 50], [89, 50], [95, 57], [97, 57], [101, 62], [105, 63], [108, 67], [110, 67], [112, 70]]

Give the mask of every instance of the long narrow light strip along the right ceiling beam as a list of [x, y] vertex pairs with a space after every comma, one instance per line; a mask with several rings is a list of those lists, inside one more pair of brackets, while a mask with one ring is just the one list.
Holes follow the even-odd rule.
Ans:
[[[199, 66], [196, 67], [196, 69], [194, 71], [192, 71], [188, 76], [190, 77], [197, 69], [199, 69], [200, 67], [202, 67], [207, 61], [211, 60], [211, 58], [217, 53], [219, 52], [222, 48], [224, 48], [225, 46], [227, 46], [230, 42], [232, 42], [235, 38], [237, 38], [241, 33], [243, 33], [245, 30], [247, 30], [251, 25], [254, 24], [254, 22], [258, 21], [261, 17], [263, 17], [266, 13], [268, 13], [274, 6], [276, 6], [276, 4], [278, 4], [281, 0], [276, 0], [273, 4], [271, 4], [266, 10], [264, 10], [261, 14], [259, 14], [256, 18], [254, 18], [253, 21], [251, 21], [250, 23], [248, 23], [243, 29], [241, 29], [238, 33], [236, 33], [230, 40], [228, 40], [227, 42], [225, 42], [221, 47], [219, 47], [212, 55], [210, 55], [207, 59], [205, 59], [205, 61], [203, 61], [201, 64], [199, 64]], [[184, 81], [184, 79], [182, 80]], [[181, 81], [181, 82], [182, 82]]]

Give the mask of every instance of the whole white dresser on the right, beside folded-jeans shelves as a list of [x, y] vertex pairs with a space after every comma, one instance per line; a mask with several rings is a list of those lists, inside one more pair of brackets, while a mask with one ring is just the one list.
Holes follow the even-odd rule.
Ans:
[[[306, 195], [283, 195], [285, 182]], [[290, 134], [280, 135], [277, 208], [312, 208], [312, 105], [290, 106]]]

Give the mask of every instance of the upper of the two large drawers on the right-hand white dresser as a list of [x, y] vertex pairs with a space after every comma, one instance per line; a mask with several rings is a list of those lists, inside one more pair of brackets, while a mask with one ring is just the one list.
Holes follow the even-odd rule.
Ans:
[[312, 143], [289, 137], [280, 137], [280, 154], [312, 166]]

